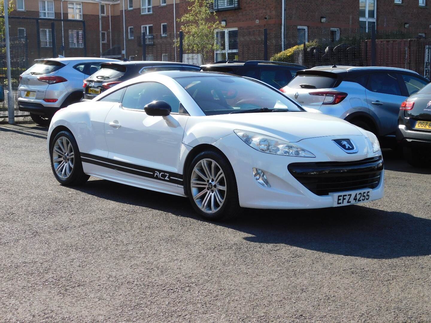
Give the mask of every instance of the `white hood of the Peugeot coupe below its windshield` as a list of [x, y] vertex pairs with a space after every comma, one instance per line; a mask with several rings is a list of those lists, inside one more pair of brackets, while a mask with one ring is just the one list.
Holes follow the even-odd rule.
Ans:
[[[223, 137], [233, 130], [249, 130], [290, 142], [334, 135], [363, 136], [361, 131], [340, 118], [312, 112], [240, 113], [191, 117], [186, 133], [194, 136]], [[210, 130], [210, 131], [209, 131]]]

